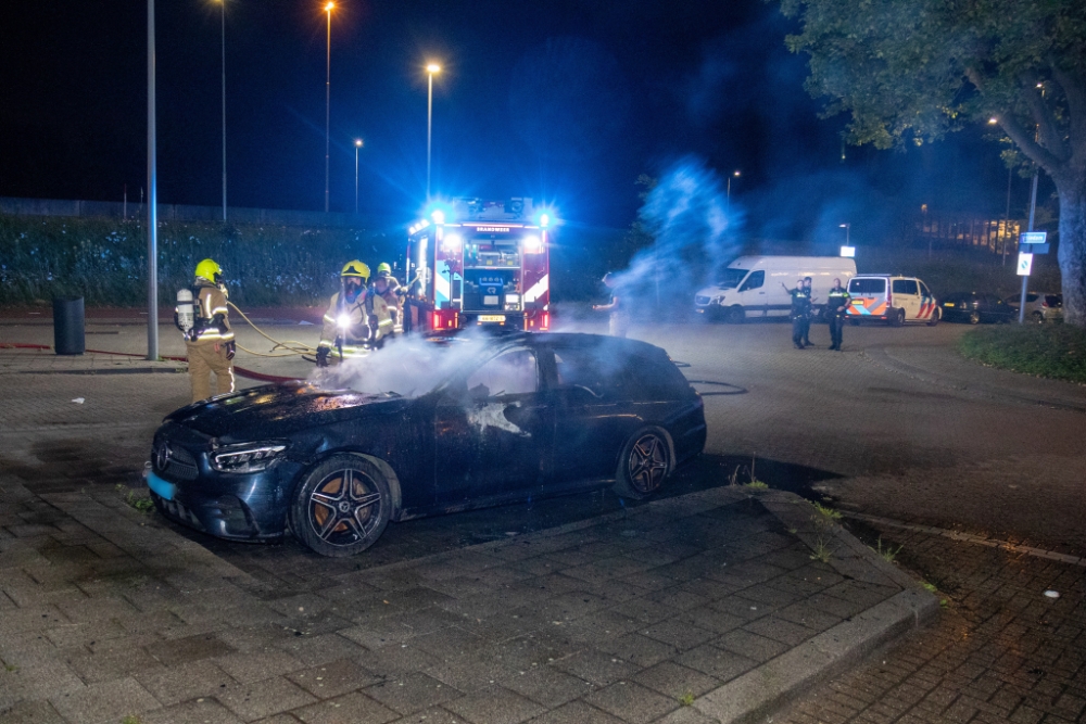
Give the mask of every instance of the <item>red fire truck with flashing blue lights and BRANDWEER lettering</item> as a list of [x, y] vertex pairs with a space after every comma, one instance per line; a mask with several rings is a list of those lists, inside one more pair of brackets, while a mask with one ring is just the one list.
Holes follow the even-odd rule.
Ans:
[[551, 327], [554, 217], [531, 199], [458, 199], [408, 229], [407, 292], [422, 329]]

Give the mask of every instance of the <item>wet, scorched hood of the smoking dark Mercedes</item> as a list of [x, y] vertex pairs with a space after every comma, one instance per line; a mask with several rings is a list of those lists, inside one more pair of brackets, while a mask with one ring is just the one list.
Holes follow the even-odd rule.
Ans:
[[409, 401], [352, 390], [321, 390], [292, 383], [251, 388], [194, 403], [166, 417], [222, 443], [278, 437], [305, 428], [357, 417], [359, 408], [376, 414], [397, 411]]

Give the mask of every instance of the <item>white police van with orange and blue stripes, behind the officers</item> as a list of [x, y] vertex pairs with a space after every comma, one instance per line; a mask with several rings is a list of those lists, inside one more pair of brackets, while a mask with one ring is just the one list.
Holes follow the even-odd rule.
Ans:
[[854, 325], [871, 320], [895, 327], [915, 321], [929, 327], [939, 323], [942, 314], [935, 295], [915, 277], [857, 275], [848, 282], [848, 293], [853, 297], [848, 319]]

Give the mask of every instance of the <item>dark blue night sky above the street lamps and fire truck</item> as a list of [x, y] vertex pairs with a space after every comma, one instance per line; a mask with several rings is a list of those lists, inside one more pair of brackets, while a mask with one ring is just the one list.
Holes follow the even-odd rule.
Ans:
[[[325, 18], [308, 0], [227, 2], [231, 206], [324, 206]], [[216, 205], [219, 5], [159, 0], [156, 20], [160, 201]], [[9, 2], [0, 27], [0, 195], [119, 201], [127, 185], [138, 200], [146, 3]], [[791, 29], [760, 0], [340, 0], [331, 209], [353, 208], [355, 138], [362, 212], [420, 207], [433, 60], [434, 193], [531, 195], [621, 227], [637, 175], [692, 154], [743, 170], [733, 193], [752, 233], [810, 233], [887, 199], [1001, 213], [1006, 172], [981, 129], [842, 162], [843, 119], [818, 118], [805, 59], [784, 48]], [[1015, 207], [1024, 189], [1015, 181]]]

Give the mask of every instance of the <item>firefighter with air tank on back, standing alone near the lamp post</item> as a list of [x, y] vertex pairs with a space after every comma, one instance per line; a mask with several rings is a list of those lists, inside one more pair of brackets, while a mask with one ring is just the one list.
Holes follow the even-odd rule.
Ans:
[[[211, 373], [215, 372], [216, 394], [233, 392], [233, 330], [227, 319], [226, 285], [223, 267], [214, 259], [197, 265], [192, 296], [195, 302], [194, 323], [185, 332], [185, 348], [189, 358], [189, 380], [192, 402], [211, 397]], [[180, 325], [178, 325], [180, 328]]]

